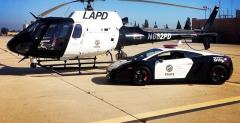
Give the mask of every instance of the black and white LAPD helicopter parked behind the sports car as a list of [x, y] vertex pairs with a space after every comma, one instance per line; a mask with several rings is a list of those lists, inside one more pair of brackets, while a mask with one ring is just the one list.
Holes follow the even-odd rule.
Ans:
[[[36, 67], [38, 59], [50, 58], [57, 60], [81, 59], [95, 57], [100, 54], [117, 50], [122, 56], [122, 48], [129, 45], [153, 43], [168, 40], [209, 36], [208, 30], [212, 26], [218, 13], [215, 7], [207, 23], [197, 31], [159, 31], [143, 30], [139, 27], [126, 26], [128, 18], [121, 18], [115, 11], [94, 11], [92, 3], [95, 0], [75, 0], [58, 5], [35, 16], [36, 21], [7, 44], [10, 51], [30, 58], [31, 67]], [[102, 0], [104, 1], [104, 0]], [[130, 2], [146, 2], [200, 9], [190, 6], [169, 4], [150, 0], [121, 0]], [[47, 14], [65, 5], [82, 2], [87, 3], [84, 11], [74, 11], [69, 17], [45, 17]], [[207, 40], [202, 40], [205, 48], [209, 48]], [[21, 61], [22, 61], [21, 60]]]

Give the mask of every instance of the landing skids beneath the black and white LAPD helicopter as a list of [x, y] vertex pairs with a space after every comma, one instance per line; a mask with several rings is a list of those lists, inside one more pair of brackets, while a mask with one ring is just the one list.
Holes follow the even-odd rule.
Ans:
[[[90, 61], [93, 60], [93, 61]], [[54, 62], [54, 63], [51, 63]], [[57, 63], [56, 63], [57, 62]], [[63, 63], [62, 63], [63, 62]], [[97, 57], [94, 58], [76, 58], [69, 60], [37, 60], [37, 65], [50, 70], [54, 73], [57, 73], [61, 76], [66, 75], [89, 75], [89, 74], [105, 74], [106, 72], [88, 72], [85, 73], [83, 70], [92, 70], [92, 69], [100, 69], [105, 70], [107, 66], [96, 66], [97, 64], [110, 64], [113, 63], [112, 57], [111, 61], [107, 62], [97, 62]], [[87, 66], [83, 66], [87, 65]], [[92, 65], [92, 66], [91, 66]], [[76, 74], [76, 71], [78, 73]], [[68, 74], [67, 74], [68, 73]]]

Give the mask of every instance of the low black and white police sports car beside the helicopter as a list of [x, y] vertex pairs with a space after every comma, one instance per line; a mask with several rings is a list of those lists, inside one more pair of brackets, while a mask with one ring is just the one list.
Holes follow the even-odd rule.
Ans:
[[107, 67], [111, 81], [146, 85], [153, 80], [223, 84], [233, 71], [230, 57], [179, 48], [154, 48]]

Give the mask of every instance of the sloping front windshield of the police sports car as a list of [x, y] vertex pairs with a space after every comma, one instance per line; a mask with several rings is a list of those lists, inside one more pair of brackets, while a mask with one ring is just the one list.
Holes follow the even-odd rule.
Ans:
[[145, 59], [153, 54], [156, 54], [156, 53], [159, 53], [161, 52], [162, 50], [161, 49], [151, 49], [151, 50], [148, 50], [148, 51], [145, 51], [145, 52], [142, 52], [142, 53], [139, 53], [135, 56], [133, 56], [132, 58], [134, 60], [141, 60], [141, 59]]

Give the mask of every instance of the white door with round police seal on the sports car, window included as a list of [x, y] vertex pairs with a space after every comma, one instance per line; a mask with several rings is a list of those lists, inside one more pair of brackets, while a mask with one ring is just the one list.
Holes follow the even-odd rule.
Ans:
[[155, 79], [184, 79], [193, 65], [181, 51], [160, 53], [155, 62]]

